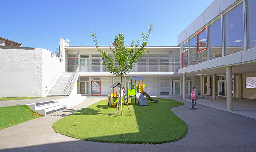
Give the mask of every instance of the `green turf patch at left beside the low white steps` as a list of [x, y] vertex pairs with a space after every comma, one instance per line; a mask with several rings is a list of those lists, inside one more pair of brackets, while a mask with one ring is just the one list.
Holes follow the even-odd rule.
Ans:
[[26, 105], [0, 107], [0, 129], [41, 117]]

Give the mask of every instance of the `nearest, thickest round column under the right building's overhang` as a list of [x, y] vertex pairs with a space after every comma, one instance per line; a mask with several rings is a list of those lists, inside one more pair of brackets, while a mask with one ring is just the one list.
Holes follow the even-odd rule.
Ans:
[[226, 78], [227, 78], [227, 110], [233, 110], [233, 99], [232, 99], [232, 66], [226, 67]]

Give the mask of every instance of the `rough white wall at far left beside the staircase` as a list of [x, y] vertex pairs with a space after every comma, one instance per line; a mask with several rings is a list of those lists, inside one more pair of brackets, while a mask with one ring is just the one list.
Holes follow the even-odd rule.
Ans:
[[46, 49], [1, 46], [0, 52], [0, 97], [44, 97], [63, 71], [63, 62]]

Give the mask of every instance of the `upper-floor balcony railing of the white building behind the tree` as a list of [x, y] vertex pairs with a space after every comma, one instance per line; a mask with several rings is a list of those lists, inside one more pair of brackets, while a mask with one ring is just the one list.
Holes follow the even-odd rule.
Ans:
[[[180, 69], [180, 63], [137, 63], [130, 72], [176, 72]], [[80, 72], [109, 72], [108, 68], [100, 63], [80, 65]]]

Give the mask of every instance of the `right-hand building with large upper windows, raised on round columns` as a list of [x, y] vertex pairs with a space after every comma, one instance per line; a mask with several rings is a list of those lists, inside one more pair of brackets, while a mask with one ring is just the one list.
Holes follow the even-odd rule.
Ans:
[[232, 98], [255, 99], [255, 7], [255, 0], [215, 0], [178, 35], [178, 73], [200, 75], [201, 96], [227, 97], [227, 110]]

